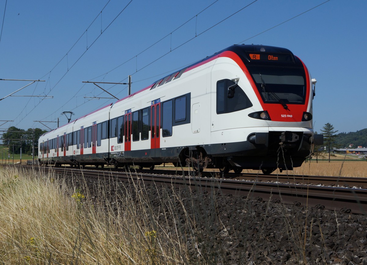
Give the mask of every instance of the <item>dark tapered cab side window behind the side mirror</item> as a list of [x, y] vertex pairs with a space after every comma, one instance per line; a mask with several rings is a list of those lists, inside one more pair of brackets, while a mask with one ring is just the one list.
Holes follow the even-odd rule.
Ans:
[[235, 87], [233, 98], [228, 98], [228, 87], [234, 84], [235, 82], [229, 79], [217, 82], [217, 114], [230, 113], [252, 107], [250, 99], [240, 86]]

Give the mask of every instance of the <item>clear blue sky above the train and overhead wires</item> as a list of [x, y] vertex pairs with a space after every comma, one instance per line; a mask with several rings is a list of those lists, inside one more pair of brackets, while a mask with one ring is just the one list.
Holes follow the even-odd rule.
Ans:
[[[285, 47], [304, 61], [317, 79], [316, 131], [326, 123], [339, 132], [367, 128], [367, 1], [325, 1], [0, 0], [0, 79], [45, 80], [14, 95], [54, 97], [1, 100], [0, 120], [14, 120], [1, 128], [47, 129], [34, 121], [58, 117], [65, 124], [63, 111], [76, 118], [115, 102], [84, 98], [110, 96], [82, 81], [126, 83], [132, 75], [135, 92], [241, 43]], [[0, 98], [28, 83], [0, 80]], [[101, 86], [117, 98], [127, 95], [126, 85]]]

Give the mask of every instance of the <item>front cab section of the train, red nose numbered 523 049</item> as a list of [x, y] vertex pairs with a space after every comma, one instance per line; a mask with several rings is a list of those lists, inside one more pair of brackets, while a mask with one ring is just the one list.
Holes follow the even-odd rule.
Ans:
[[308, 70], [286, 49], [250, 48], [212, 69], [211, 154], [224, 171], [292, 170], [315, 143]]

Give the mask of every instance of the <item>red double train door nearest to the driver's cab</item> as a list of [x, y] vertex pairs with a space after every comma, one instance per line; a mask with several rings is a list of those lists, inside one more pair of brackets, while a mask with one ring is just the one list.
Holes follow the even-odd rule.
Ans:
[[156, 99], [152, 101], [150, 105], [150, 149], [153, 157], [159, 156], [160, 148], [160, 125], [161, 125], [161, 117], [160, 117], [160, 99]]

